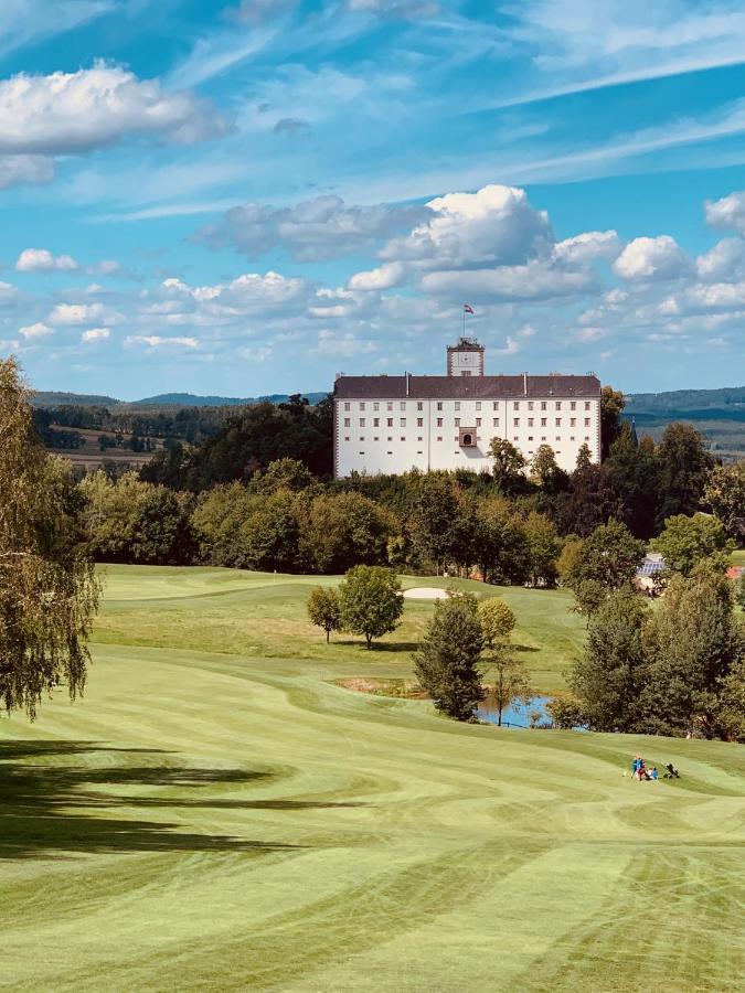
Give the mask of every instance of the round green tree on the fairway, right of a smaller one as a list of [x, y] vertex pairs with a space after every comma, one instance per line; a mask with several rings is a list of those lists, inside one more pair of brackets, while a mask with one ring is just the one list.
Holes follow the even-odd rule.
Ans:
[[355, 566], [339, 587], [341, 626], [352, 634], [373, 638], [394, 631], [404, 610], [398, 577], [381, 566]]

